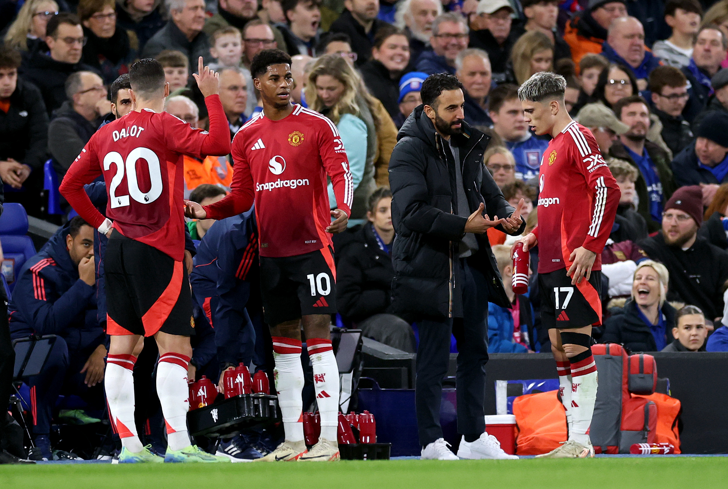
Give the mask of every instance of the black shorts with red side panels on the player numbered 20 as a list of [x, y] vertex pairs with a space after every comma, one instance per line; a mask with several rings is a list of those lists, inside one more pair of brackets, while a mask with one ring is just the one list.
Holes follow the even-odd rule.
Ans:
[[157, 248], [111, 232], [104, 255], [106, 333], [194, 335], [187, 269]]

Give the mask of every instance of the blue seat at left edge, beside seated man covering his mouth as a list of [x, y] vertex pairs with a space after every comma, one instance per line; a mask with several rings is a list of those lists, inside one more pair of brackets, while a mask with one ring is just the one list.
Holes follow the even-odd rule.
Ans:
[[22, 205], [15, 202], [4, 205], [0, 215], [0, 244], [5, 260], [15, 261], [12, 281], [8, 284], [12, 292], [23, 264], [36, 254], [33, 240], [28, 236], [28, 214]]

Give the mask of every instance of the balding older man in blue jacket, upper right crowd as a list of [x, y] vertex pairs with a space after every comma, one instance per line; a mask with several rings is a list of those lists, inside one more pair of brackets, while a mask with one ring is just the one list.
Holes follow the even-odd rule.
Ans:
[[635, 17], [617, 17], [609, 25], [606, 41], [601, 45], [601, 54], [612, 63], [630, 68], [637, 79], [639, 90], [647, 87], [649, 73], [662, 65], [644, 46], [644, 28]]

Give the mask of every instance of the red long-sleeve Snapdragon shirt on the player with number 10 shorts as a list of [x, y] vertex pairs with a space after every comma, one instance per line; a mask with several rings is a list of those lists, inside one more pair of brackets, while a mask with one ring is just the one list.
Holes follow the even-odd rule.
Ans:
[[326, 175], [336, 204], [351, 214], [354, 180], [336, 126], [321, 114], [296, 105], [272, 121], [258, 114], [232, 141], [231, 192], [205, 206], [207, 218], [223, 219], [256, 201], [261, 256], [303, 255], [332, 244]]

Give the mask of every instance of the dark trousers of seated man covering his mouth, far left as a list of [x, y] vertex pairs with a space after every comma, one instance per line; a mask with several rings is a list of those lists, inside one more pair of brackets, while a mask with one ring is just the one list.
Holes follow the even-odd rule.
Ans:
[[58, 336], [41, 373], [28, 378], [33, 407], [33, 434], [50, 433], [53, 408], [62, 391], [63, 394], [82, 397], [89, 403], [90, 409], [103, 409], [103, 382], [89, 387], [84, 383], [86, 374], [80, 373], [98, 346], [98, 338], [93, 340], [89, 345], [80, 345], [81, 349], [69, 350], [66, 340]]

